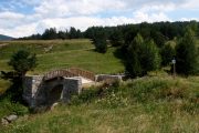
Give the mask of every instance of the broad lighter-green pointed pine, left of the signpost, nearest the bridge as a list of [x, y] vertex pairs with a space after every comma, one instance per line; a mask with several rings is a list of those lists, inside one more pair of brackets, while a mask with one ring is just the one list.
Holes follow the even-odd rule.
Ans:
[[158, 48], [153, 40], [145, 41], [138, 33], [127, 50], [126, 71], [130, 78], [143, 76], [160, 64]]

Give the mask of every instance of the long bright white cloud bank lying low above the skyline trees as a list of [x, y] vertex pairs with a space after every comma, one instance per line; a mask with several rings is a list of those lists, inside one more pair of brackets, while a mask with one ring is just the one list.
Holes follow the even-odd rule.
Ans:
[[[48, 28], [56, 28], [59, 30], [69, 29], [75, 27], [82, 31], [93, 25], [117, 25], [128, 23], [139, 23], [143, 21], [155, 22], [155, 21], [168, 21], [169, 19], [164, 13], [154, 13], [151, 16], [145, 13], [136, 13], [134, 18], [126, 17], [112, 17], [112, 18], [95, 18], [95, 17], [72, 17], [72, 18], [53, 18], [43, 19], [36, 23], [27, 24], [23, 27], [15, 28], [19, 31], [13, 32], [14, 37], [30, 35], [32, 33], [42, 33]], [[30, 27], [30, 28], [29, 28]], [[28, 29], [28, 30], [27, 30]], [[25, 32], [24, 32], [25, 31]]]

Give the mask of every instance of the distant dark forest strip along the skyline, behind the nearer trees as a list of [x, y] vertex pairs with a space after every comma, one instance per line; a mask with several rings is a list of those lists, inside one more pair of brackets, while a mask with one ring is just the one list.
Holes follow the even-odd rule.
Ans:
[[[125, 38], [134, 38], [139, 32], [144, 38], [153, 38], [158, 45], [161, 45], [165, 40], [171, 40], [175, 37], [182, 37], [185, 28], [190, 25], [197, 29], [197, 21], [185, 22], [142, 22], [137, 24], [123, 24], [117, 27], [90, 27], [85, 31], [71, 27], [65, 31], [57, 31], [55, 28], [45, 29], [40, 34], [20, 38], [20, 40], [52, 40], [52, 39], [94, 39], [97, 32], [103, 32], [106, 40], [124, 40]], [[133, 37], [128, 37], [129, 32]], [[199, 34], [199, 33], [198, 33]], [[157, 38], [158, 37], [158, 38]]]

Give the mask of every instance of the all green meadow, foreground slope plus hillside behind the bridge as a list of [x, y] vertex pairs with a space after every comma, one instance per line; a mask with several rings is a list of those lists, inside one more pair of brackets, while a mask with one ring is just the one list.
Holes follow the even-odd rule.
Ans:
[[[115, 57], [94, 51], [90, 40], [9, 41], [0, 48], [0, 70], [9, 71], [13, 52], [25, 49], [36, 53], [38, 66], [28, 74], [43, 74], [54, 69], [77, 66], [95, 73], [124, 72]], [[0, 93], [9, 82], [0, 80]], [[199, 76], [174, 79], [164, 71], [147, 76], [92, 86], [71, 103], [54, 110], [30, 114], [28, 108], [4, 100], [0, 102], [0, 119], [15, 112], [20, 115], [1, 133], [197, 133], [199, 132]]]

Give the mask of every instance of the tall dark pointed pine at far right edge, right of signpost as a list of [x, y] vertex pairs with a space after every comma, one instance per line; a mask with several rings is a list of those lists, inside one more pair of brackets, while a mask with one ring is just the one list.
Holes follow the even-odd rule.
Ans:
[[179, 74], [195, 74], [198, 65], [198, 51], [195, 34], [190, 29], [186, 30], [184, 38], [176, 47], [176, 71]]

